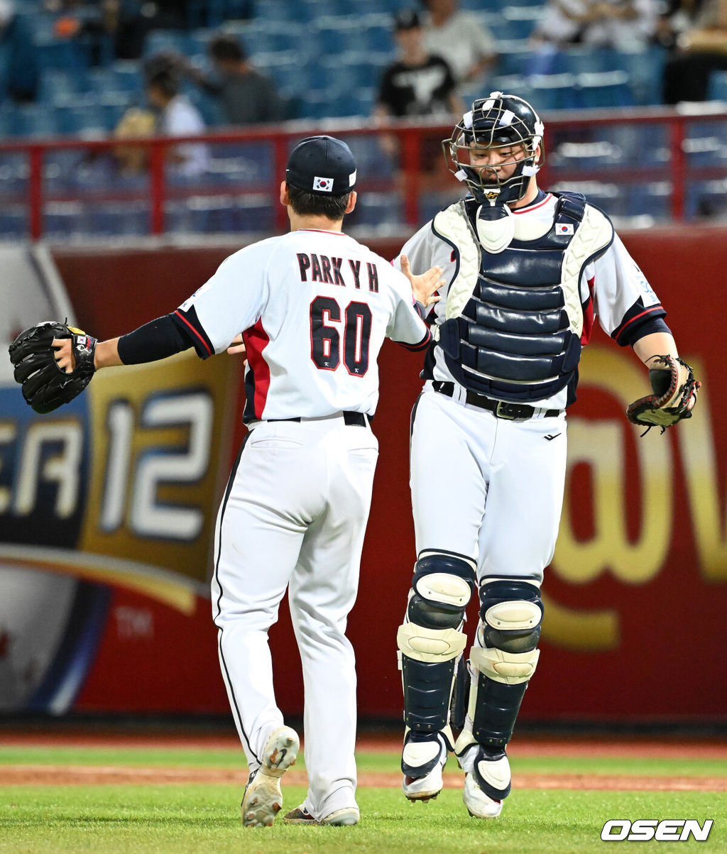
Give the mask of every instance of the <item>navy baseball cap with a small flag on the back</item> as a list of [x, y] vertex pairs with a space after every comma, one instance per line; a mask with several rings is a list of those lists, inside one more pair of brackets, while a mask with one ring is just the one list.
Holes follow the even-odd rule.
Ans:
[[356, 185], [356, 161], [340, 139], [306, 137], [290, 152], [285, 180], [316, 196], [343, 196]]

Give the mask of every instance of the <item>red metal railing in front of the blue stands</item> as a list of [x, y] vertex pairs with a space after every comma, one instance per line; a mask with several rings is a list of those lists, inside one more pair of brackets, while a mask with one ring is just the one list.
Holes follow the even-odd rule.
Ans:
[[[542, 169], [541, 184], [548, 186], [554, 180], [577, 181], [584, 179], [598, 179], [607, 176], [608, 180], [619, 180], [629, 182], [635, 180], [668, 180], [671, 184], [671, 218], [681, 221], [684, 217], [685, 184], [687, 180], [725, 178], [727, 171], [720, 166], [711, 167], [689, 167], [687, 154], [685, 153], [684, 141], [689, 135], [689, 126], [709, 121], [727, 123], [727, 112], [724, 113], [702, 113], [702, 114], [680, 114], [671, 108], [647, 108], [647, 109], [624, 109], [624, 110], [593, 110], [588, 112], [568, 112], [558, 114], [546, 114], [544, 116], [546, 125], [545, 144], [546, 149], [552, 149], [552, 141], [556, 138], [567, 139], [569, 134], [583, 134], [584, 130], [593, 132], [597, 138], [598, 129], [604, 126], [645, 126], [660, 125], [668, 130], [669, 157], [663, 164], [656, 167], [639, 163], [638, 161], [624, 165], [623, 168], [614, 172], [613, 167], [599, 169], [589, 166], [588, 170], [576, 167], [575, 169], [554, 167], [548, 163], [546, 156], [545, 166]], [[316, 126], [291, 122], [275, 127], [257, 127], [244, 130], [209, 133], [204, 136], [195, 137], [147, 137], [134, 140], [124, 140], [123, 143], [134, 147], [144, 146], [150, 150], [149, 156], [149, 184], [148, 194], [137, 191], [126, 198], [149, 198], [150, 201], [150, 232], [161, 234], [165, 231], [165, 202], [169, 198], [184, 196], [192, 190], [180, 190], [170, 187], [167, 177], [166, 155], [170, 146], [179, 143], [209, 143], [210, 146], [220, 143], [249, 143], [270, 142], [273, 144], [273, 178], [264, 185], [265, 190], [277, 198], [278, 184], [284, 175], [285, 162], [287, 160], [290, 144], [296, 139], [309, 136], [313, 133], [330, 133], [333, 136], [343, 138], [356, 136], [372, 136], [388, 133], [398, 137], [401, 146], [401, 184], [398, 189], [403, 193], [404, 222], [402, 226], [408, 228], [420, 225], [419, 199], [422, 191], [421, 184], [421, 162], [422, 141], [425, 138], [443, 138], [449, 136], [451, 125], [423, 125], [411, 121], [396, 121], [385, 128], [374, 128], [371, 124], [362, 124], [360, 120], [341, 120], [333, 122], [328, 120]], [[725, 124], [727, 128], [727, 124]], [[91, 153], [108, 152], [118, 147], [120, 140], [114, 138], [85, 140], [79, 138], [55, 138], [47, 140], [12, 141], [0, 142], [0, 155], [3, 153], [25, 153], [28, 157], [27, 196], [23, 199], [28, 209], [28, 231], [32, 239], [43, 236], [43, 209], [46, 202], [54, 201], [57, 196], [46, 192], [44, 188], [44, 157], [50, 152], [67, 149], [85, 149]], [[443, 167], [442, 167], [443, 169]], [[446, 178], [446, 173], [443, 173]], [[359, 176], [361, 189], [371, 188], [376, 185], [376, 177], [371, 175]], [[454, 179], [453, 179], [454, 182]], [[381, 187], [379, 186], [379, 189]], [[395, 189], [392, 184], [389, 189]], [[259, 192], [261, 186], [255, 188]], [[251, 192], [250, 188], [235, 190], [245, 193]], [[201, 181], [195, 185], [195, 195], [214, 195], [220, 193], [220, 186], [205, 187]], [[89, 196], [78, 196], [81, 201], [88, 201]], [[114, 194], [105, 196], [93, 196], [93, 201], [103, 201], [114, 198]], [[66, 193], [63, 199], [69, 199]], [[2, 201], [2, 199], [0, 199]], [[287, 224], [284, 208], [277, 208], [276, 225], [284, 228]]]

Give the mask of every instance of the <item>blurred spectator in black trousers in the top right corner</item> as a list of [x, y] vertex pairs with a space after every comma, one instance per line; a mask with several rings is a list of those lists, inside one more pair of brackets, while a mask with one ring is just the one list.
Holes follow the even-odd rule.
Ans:
[[664, 102], [705, 101], [712, 71], [727, 71], [727, 0], [706, 0], [695, 25], [678, 36], [664, 69]]

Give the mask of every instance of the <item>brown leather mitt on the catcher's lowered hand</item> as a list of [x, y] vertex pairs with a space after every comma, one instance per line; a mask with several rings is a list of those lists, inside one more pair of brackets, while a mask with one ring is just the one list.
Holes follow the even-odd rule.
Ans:
[[694, 402], [690, 401], [696, 401], [701, 383], [686, 362], [678, 356], [654, 356], [648, 379], [654, 394], [626, 407], [626, 417], [633, 424], [660, 427], [663, 433], [677, 421], [692, 417]]

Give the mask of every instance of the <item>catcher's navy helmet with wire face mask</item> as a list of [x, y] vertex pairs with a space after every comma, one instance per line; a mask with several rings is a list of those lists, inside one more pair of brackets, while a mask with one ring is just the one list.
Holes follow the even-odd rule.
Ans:
[[[454, 126], [452, 136], [443, 140], [444, 160], [449, 172], [464, 181], [481, 204], [517, 202], [525, 196], [531, 177], [541, 167], [543, 131], [540, 117], [527, 101], [516, 95], [490, 92], [488, 97], [472, 103], [472, 109]], [[522, 151], [524, 156], [499, 163], [498, 166], [517, 163], [510, 178], [501, 179], [494, 167], [471, 165], [473, 144], [488, 149], [517, 146], [518, 155]]]

